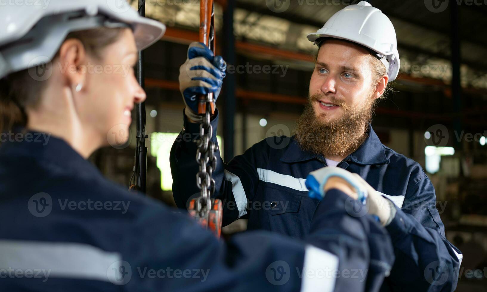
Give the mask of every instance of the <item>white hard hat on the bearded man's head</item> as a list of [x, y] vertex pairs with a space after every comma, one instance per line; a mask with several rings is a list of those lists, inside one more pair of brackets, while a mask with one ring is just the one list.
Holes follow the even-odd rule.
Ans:
[[389, 82], [399, 73], [400, 61], [394, 26], [382, 11], [366, 1], [341, 9], [326, 21], [323, 28], [308, 35], [308, 39], [315, 44], [320, 37], [346, 39], [376, 52], [386, 66]]

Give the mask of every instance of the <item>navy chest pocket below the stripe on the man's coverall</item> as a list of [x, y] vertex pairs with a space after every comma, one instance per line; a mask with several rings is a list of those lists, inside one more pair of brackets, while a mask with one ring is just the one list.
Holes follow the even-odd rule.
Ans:
[[262, 206], [269, 218], [270, 230], [290, 237], [299, 237], [296, 232], [301, 196], [292, 191], [266, 187]]

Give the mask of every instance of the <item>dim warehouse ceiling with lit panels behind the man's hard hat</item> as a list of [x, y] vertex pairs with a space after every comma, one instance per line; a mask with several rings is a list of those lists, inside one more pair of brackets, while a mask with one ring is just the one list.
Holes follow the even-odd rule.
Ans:
[[[280, 2], [281, 1], [281, 2]], [[132, 6], [136, 7], [136, 0]], [[281, 3], [280, 7], [272, 6]], [[357, 0], [237, 0], [237, 39], [271, 45], [300, 53], [313, 52], [306, 35], [316, 32], [326, 20]], [[450, 9], [441, 12], [426, 7], [427, 1], [370, 0], [393, 22], [398, 39], [401, 72], [412, 77], [440, 79], [450, 83]], [[456, 1], [451, 1], [456, 2]], [[464, 87], [487, 89], [487, 39], [479, 30], [487, 27], [487, 6], [459, 6], [461, 80]], [[269, 5], [269, 6], [268, 6]], [[146, 14], [168, 26], [197, 30], [199, 1], [147, 1]], [[441, 8], [440, 8], [441, 10]], [[222, 25], [222, 7], [215, 6], [217, 31]]]

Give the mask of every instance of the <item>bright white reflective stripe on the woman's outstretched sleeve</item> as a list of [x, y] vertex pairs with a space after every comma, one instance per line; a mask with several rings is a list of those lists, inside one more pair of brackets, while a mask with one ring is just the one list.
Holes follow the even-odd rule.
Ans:
[[338, 256], [307, 245], [301, 273], [301, 292], [333, 292], [336, 281], [334, 271], [337, 269]]

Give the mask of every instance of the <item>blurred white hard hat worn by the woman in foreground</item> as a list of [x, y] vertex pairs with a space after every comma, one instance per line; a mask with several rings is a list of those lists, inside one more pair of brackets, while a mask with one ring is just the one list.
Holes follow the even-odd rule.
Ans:
[[138, 50], [149, 47], [166, 31], [164, 24], [141, 17], [126, 0], [7, 4], [0, 9], [0, 79], [51, 61], [70, 32], [123, 26], [132, 29]]

